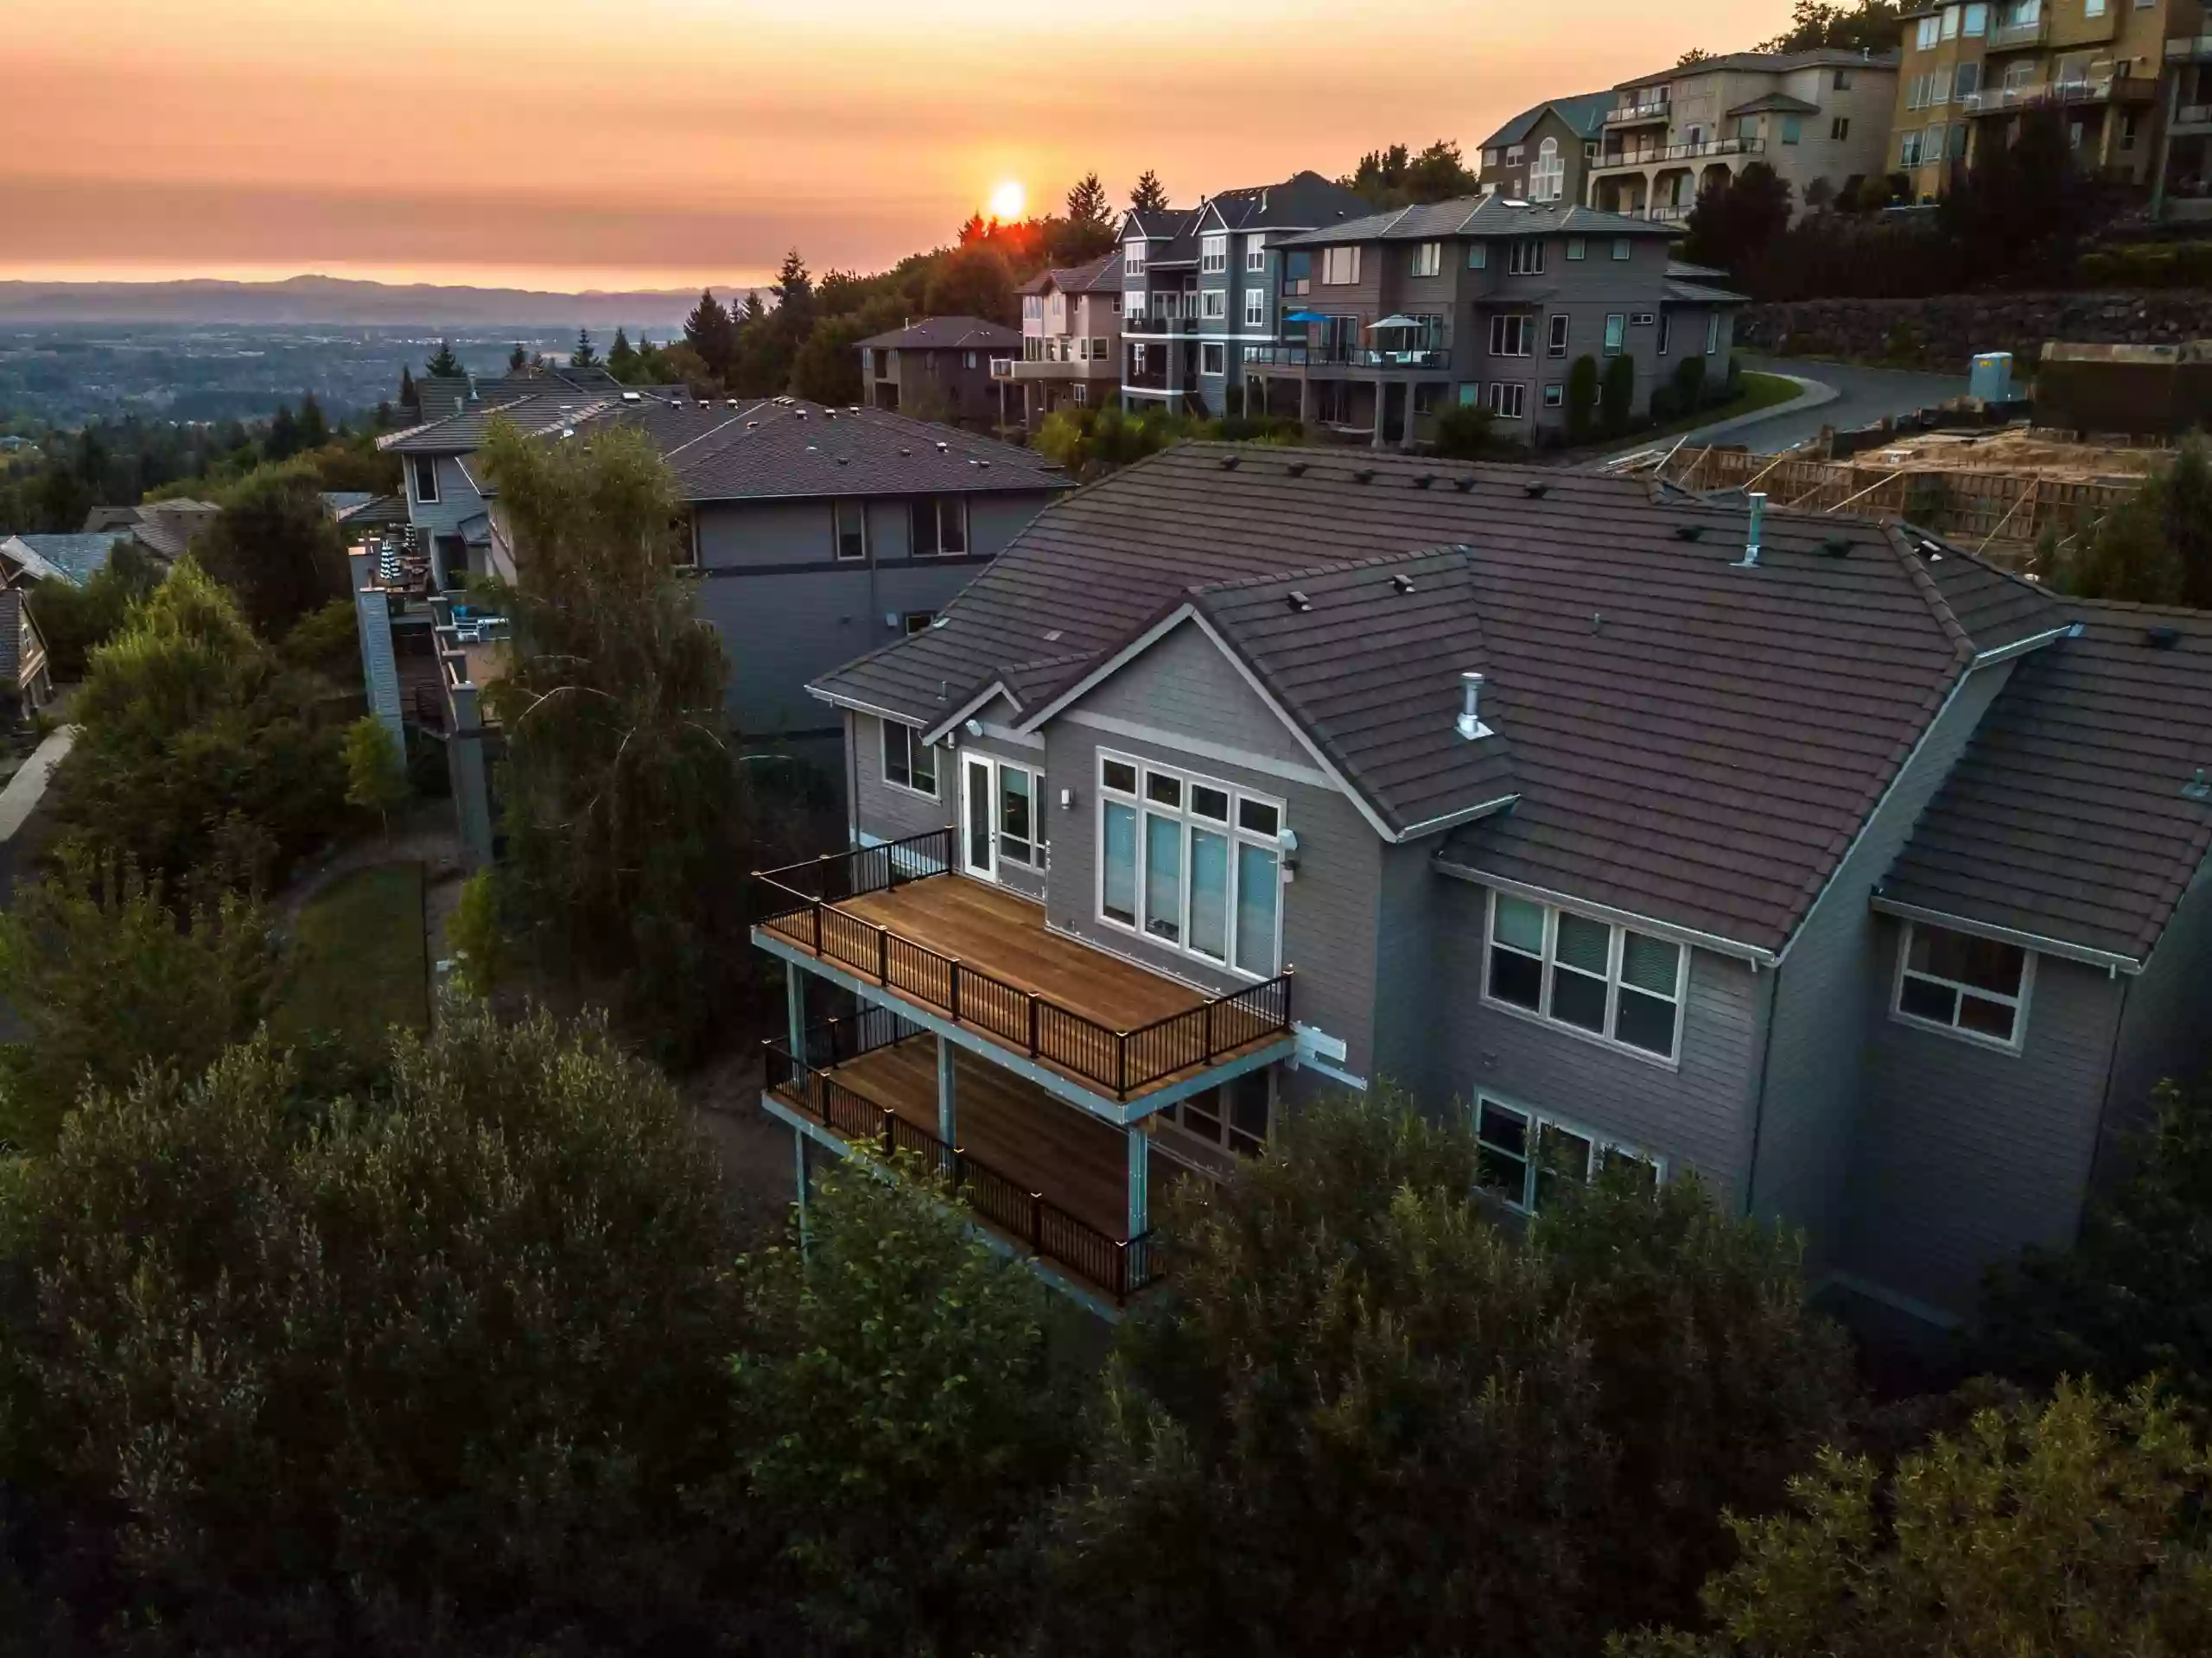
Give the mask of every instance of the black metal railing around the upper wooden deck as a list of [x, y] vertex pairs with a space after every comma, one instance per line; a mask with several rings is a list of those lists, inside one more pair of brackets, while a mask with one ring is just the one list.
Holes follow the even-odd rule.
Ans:
[[1115, 1030], [1051, 997], [940, 955], [894, 926], [838, 909], [867, 893], [947, 875], [953, 853], [953, 831], [931, 829], [883, 847], [770, 869], [754, 875], [763, 893], [754, 926], [933, 1008], [953, 1024], [982, 1030], [1029, 1059], [1095, 1083], [1115, 1099], [1290, 1032], [1290, 973], [1208, 997], [1137, 1030]]

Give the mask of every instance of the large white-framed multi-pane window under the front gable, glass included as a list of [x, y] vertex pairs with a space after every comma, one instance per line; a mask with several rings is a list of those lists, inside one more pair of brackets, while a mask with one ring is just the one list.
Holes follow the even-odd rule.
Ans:
[[1283, 959], [1283, 802], [1102, 749], [1097, 915], [1272, 979]]

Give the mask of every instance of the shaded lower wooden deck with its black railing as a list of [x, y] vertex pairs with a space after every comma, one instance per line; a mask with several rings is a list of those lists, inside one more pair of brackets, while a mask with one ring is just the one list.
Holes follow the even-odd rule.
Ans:
[[1128, 1134], [973, 1054], [953, 1057], [956, 1136], [938, 1136], [938, 1043], [889, 1008], [768, 1043], [768, 1096], [847, 1156], [920, 1158], [984, 1227], [1113, 1302], [1159, 1271], [1152, 1234], [1128, 1234]]

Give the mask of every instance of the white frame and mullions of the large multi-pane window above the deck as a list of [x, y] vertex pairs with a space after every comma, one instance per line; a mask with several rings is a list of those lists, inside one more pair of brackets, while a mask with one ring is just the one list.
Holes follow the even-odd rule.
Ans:
[[[1115, 787], [1106, 780], [1108, 765], [1126, 765], [1135, 769], [1137, 789], [1135, 794]], [[1265, 984], [1283, 973], [1283, 831], [1290, 827], [1290, 802], [1281, 796], [1263, 794], [1259, 789], [1245, 789], [1223, 778], [1203, 776], [1199, 772], [1186, 772], [1179, 765], [1161, 765], [1157, 760], [1146, 760], [1137, 754], [1126, 754], [1121, 749], [1097, 749], [1097, 760], [1093, 769], [1097, 783], [1097, 809], [1093, 811], [1091, 825], [1097, 836], [1095, 858], [1097, 869], [1091, 878], [1091, 913], [1097, 917], [1099, 926], [1113, 928], [1126, 937], [1137, 937], [1159, 951], [1170, 951], [1183, 959], [1201, 962], [1217, 973], [1230, 973], [1239, 979], [1250, 979], [1252, 984]], [[1150, 780], [1164, 778], [1177, 783], [1177, 805], [1168, 807], [1152, 798]], [[1228, 798], [1228, 818], [1214, 818], [1194, 809], [1194, 794], [1199, 789], [1210, 789]], [[1261, 833], [1243, 827], [1245, 805], [1254, 805], [1263, 811], [1274, 811], [1274, 833]], [[1121, 807], [1135, 814], [1137, 840], [1133, 849], [1133, 902], [1130, 911], [1135, 920], [1124, 922], [1117, 915], [1106, 913], [1106, 811], [1108, 807]], [[1146, 926], [1146, 889], [1150, 884], [1150, 847], [1152, 836], [1148, 833], [1146, 818], [1166, 818], [1181, 825], [1179, 860], [1181, 869], [1177, 873], [1177, 917], [1175, 937], [1161, 937]], [[1228, 842], [1228, 884], [1223, 886], [1223, 955], [1210, 955], [1192, 946], [1190, 942], [1190, 871], [1192, 871], [1192, 831], [1203, 831], [1221, 836]], [[1243, 884], [1243, 860], [1237, 856], [1239, 847], [1263, 849], [1274, 858], [1274, 937], [1267, 940], [1267, 962], [1272, 968], [1267, 973], [1252, 973], [1237, 964], [1239, 957], [1239, 926], [1241, 926], [1241, 884]]]

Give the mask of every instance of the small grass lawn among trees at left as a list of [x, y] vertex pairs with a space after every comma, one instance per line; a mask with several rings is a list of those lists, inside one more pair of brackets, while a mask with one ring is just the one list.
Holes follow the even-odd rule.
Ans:
[[279, 1039], [338, 1037], [365, 1061], [383, 1052], [387, 1026], [429, 1026], [422, 864], [358, 869], [307, 900], [292, 984], [270, 1026]]

